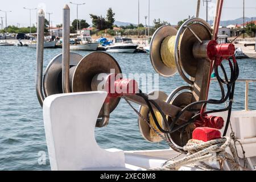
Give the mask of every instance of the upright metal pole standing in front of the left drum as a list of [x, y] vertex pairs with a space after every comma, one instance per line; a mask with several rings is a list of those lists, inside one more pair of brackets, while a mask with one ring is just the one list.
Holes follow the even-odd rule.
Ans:
[[70, 9], [68, 5], [63, 9], [63, 53], [62, 53], [62, 89], [69, 93], [69, 36], [70, 36]]

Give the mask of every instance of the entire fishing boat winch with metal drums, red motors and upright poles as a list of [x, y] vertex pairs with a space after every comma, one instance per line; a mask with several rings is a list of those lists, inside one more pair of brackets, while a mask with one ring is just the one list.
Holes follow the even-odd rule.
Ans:
[[[164, 77], [171, 77], [179, 72], [188, 84], [175, 89], [167, 96], [161, 91], [142, 93], [135, 80], [122, 77], [117, 61], [107, 53], [93, 52], [85, 57], [70, 53], [70, 12], [67, 5], [63, 12], [63, 53], [49, 63], [42, 83], [44, 13], [43, 10], [39, 11], [36, 88], [41, 105], [44, 97], [52, 94], [103, 90], [108, 93], [108, 97], [98, 115], [96, 127], [108, 125], [110, 113], [117, 107], [121, 98], [124, 98], [131, 107], [133, 106], [130, 102], [141, 105], [139, 111], [134, 107], [133, 109], [139, 116], [139, 130], [144, 139], [149, 142], [166, 140], [179, 152], [184, 152], [183, 147], [193, 138], [193, 131], [197, 135], [201, 132], [195, 130], [196, 128], [210, 127], [220, 130], [224, 127], [224, 119], [209, 115], [211, 113], [229, 111], [224, 131], [224, 135], [226, 134], [239, 68], [234, 57], [234, 45], [216, 42], [219, 20], [216, 19], [213, 30], [203, 19], [191, 18], [185, 21], [179, 30], [162, 26], [155, 31], [150, 46], [153, 68]], [[222, 64], [223, 60], [229, 62], [230, 78]], [[219, 68], [224, 78], [220, 77]], [[220, 85], [220, 100], [208, 100], [213, 71]], [[224, 85], [227, 88], [226, 93]], [[158, 94], [159, 97], [151, 99], [151, 94]], [[207, 110], [209, 104], [220, 105], [228, 100], [229, 104], [224, 109]]]

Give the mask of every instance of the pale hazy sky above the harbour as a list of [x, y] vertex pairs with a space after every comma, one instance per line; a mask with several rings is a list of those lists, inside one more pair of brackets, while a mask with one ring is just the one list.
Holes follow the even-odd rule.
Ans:
[[[86, 19], [91, 23], [89, 14], [97, 14], [105, 16], [106, 10], [109, 7], [115, 12], [115, 19], [121, 22], [138, 23], [138, 0], [72, 0], [74, 3], [86, 3], [79, 7], [79, 19]], [[141, 22], [144, 24], [144, 15], [148, 14], [148, 0], [140, 0], [141, 2]], [[242, 0], [225, 0], [222, 20], [241, 18]], [[22, 0], [22, 1], [0, 1], [0, 10], [13, 11], [7, 14], [8, 24], [20, 23], [20, 26], [29, 26], [29, 11], [23, 7], [36, 8], [44, 7], [51, 15], [53, 25], [62, 22], [62, 9], [65, 3], [68, 3], [71, 8], [71, 20], [76, 18], [76, 6], [71, 5], [66, 0]], [[187, 18], [189, 15], [196, 14], [197, 0], [150, 0], [151, 14], [150, 19], [160, 18], [167, 20], [171, 24], [177, 24], [181, 19]], [[209, 3], [209, 17], [212, 18], [215, 11], [216, 0]], [[256, 16], [256, 0], [245, 0], [245, 16]], [[36, 22], [36, 11], [32, 11], [32, 23]], [[5, 16], [5, 13], [0, 12], [0, 16]], [[205, 19], [206, 6], [203, 6], [201, 1], [200, 18]], [[48, 19], [48, 15], [46, 16]], [[1, 22], [0, 22], [1, 23]], [[5, 20], [4, 20], [5, 24]]]

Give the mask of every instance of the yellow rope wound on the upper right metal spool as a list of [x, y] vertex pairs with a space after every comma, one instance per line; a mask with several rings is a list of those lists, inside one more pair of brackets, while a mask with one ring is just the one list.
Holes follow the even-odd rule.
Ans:
[[176, 68], [175, 64], [175, 39], [176, 36], [167, 36], [161, 45], [161, 58], [168, 68]]

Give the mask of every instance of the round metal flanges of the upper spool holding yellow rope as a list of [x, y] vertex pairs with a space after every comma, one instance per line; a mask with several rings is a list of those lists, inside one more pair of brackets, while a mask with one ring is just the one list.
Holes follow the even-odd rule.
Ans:
[[[174, 43], [176, 68], [168, 68], [161, 57], [161, 46], [167, 36], [176, 36]], [[193, 46], [200, 40], [211, 40], [212, 30], [207, 22], [200, 18], [188, 19], [177, 31], [171, 26], [162, 26], [155, 31], [150, 45], [150, 59], [155, 71], [165, 77], [180, 76], [193, 85], [193, 81], [186, 75], [195, 77], [197, 59], [193, 56]], [[172, 60], [174, 61], [174, 60]]]

